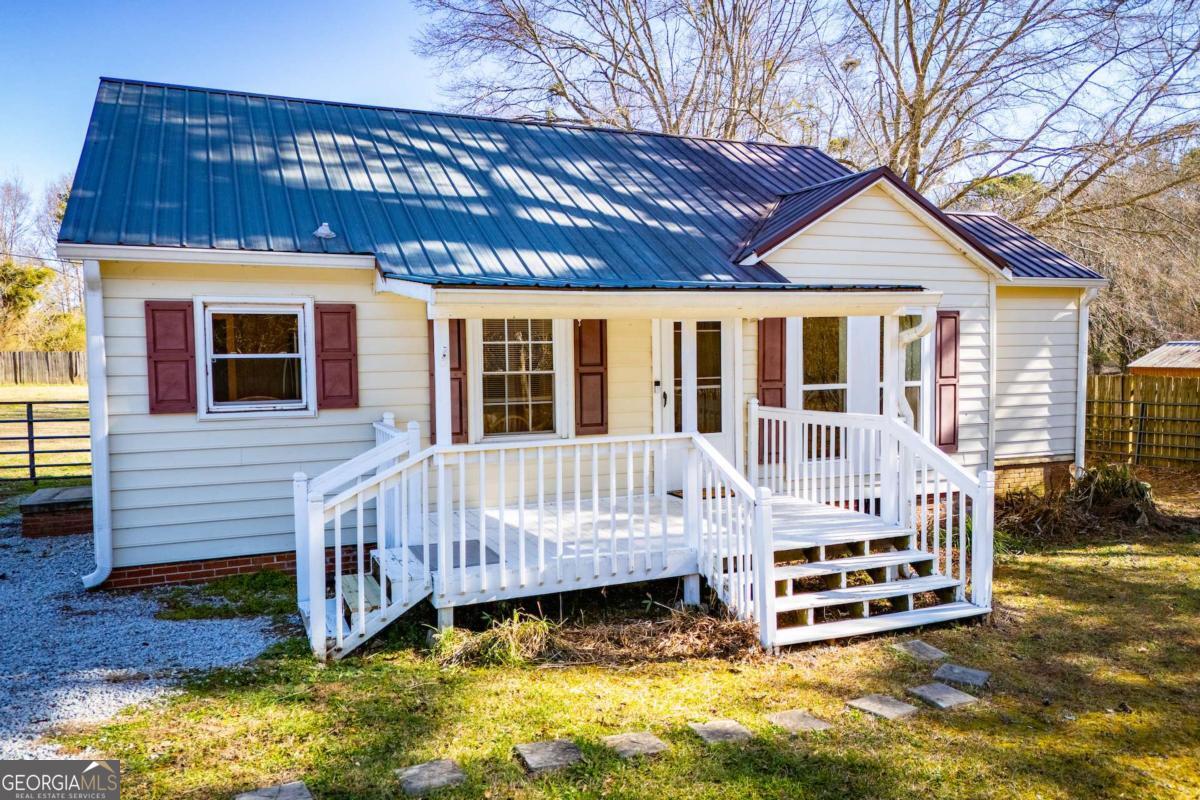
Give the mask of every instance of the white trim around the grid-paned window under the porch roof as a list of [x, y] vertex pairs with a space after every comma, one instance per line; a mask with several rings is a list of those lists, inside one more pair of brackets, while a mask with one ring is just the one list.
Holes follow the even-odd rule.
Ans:
[[[512, 319], [528, 319], [514, 317]], [[535, 318], [536, 319], [536, 318]], [[467, 320], [467, 441], [544, 441], [575, 437], [575, 320], [551, 320], [554, 348], [554, 429], [484, 435], [484, 320]]]

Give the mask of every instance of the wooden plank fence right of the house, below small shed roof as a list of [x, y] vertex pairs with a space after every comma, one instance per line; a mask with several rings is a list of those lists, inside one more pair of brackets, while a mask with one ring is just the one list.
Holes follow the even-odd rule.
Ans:
[[1200, 378], [1091, 375], [1087, 455], [1092, 461], [1200, 468]]

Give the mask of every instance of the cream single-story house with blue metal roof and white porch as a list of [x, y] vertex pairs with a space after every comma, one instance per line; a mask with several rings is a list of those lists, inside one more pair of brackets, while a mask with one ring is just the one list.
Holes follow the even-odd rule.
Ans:
[[996, 481], [1082, 463], [1100, 276], [811, 148], [103, 79], [59, 253], [85, 584], [295, 569], [318, 656], [668, 577], [764, 646], [984, 614]]

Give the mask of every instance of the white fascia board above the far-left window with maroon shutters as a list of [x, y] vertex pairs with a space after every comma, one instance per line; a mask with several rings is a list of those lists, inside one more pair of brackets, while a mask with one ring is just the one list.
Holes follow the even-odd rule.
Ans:
[[238, 266], [307, 266], [322, 269], [376, 269], [374, 255], [340, 253], [274, 253], [251, 249], [198, 247], [140, 247], [132, 245], [77, 245], [61, 242], [59, 258], [98, 261], [157, 261], [163, 264], [233, 264]]

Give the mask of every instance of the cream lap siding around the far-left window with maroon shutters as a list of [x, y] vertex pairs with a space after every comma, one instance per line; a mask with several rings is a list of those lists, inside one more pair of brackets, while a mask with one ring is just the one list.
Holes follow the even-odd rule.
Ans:
[[[371, 270], [103, 263], [101, 276], [116, 566], [292, 549], [293, 473], [372, 446], [384, 411], [428, 431], [425, 306], [376, 294]], [[360, 407], [274, 420], [149, 414], [144, 301], [198, 295], [355, 303]]]

